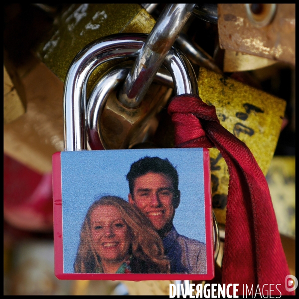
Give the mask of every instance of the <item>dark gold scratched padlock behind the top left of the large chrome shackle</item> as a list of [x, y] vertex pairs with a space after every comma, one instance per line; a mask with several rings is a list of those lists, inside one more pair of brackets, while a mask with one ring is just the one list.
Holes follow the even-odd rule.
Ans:
[[[72, 60], [90, 42], [119, 32], [149, 33], [154, 23], [149, 13], [137, 3], [72, 4], [55, 19], [51, 37], [40, 44], [37, 55], [64, 82]], [[101, 74], [120, 61], [123, 59], [106, 62], [94, 70], [87, 91]]]

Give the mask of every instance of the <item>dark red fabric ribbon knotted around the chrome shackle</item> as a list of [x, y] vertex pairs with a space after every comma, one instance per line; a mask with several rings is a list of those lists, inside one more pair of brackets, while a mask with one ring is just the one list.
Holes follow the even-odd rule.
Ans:
[[[285, 288], [290, 274], [268, 183], [250, 149], [221, 126], [214, 106], [196, 95], [174, 97], [169, 104], [178, 148], [216, 147], [229, 169], [222, 283], [243, 285], [254, 294], [294, 295]], [[258, 286], [259, 285], [259, 286]], [[246, 290], [246, 289], [245, 289]], [[278, 291], [279, 290], [279, 291]]]

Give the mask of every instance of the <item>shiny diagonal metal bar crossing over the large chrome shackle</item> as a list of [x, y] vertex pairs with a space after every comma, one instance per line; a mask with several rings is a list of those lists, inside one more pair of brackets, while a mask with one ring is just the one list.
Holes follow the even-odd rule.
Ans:
[[137, 108], [154, 75], [182, 30], [196, 3], [167, 3], [136, 57], [119, 91], [119, 101], [127, 108]]

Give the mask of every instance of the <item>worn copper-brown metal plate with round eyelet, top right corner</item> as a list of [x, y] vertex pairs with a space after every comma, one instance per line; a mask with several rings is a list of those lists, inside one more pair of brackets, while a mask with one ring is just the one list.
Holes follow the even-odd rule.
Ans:
[[273, 21], [257, 28], [245, 4], [218, 4], [220, 47], [295, 64], [295, 10], [295, 3], [279, 3]]

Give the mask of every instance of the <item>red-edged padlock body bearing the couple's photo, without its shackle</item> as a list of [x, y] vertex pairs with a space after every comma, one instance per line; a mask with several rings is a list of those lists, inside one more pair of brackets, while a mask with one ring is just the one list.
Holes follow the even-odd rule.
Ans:
[[55, 153], [55, 275], [211, 279], [209, 163], [202, 148]]

